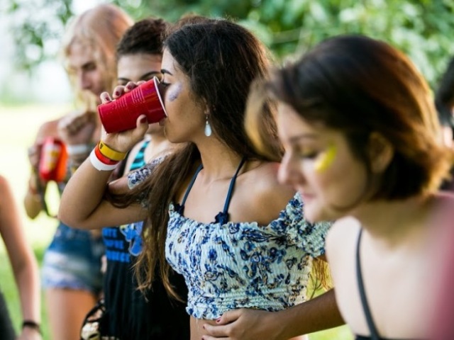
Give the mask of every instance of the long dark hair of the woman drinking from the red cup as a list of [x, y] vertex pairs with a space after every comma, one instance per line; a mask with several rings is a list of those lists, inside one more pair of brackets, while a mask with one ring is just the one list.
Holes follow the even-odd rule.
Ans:
[[[269, 71], [268, 51], [255, 35], [232, 21], [200, 16], [184, 21], [168, 30], [164, 48], [189, 77], [193, 98], [209, 109], [216, 136], [241, 157], [268, 159], [256, 152], [244, 127], [250, 84]], [[264, 121], [268, 122], [267, 132], [277, 135], [271, 115]], [[271, 154], [273, 159], [279, 159], [282, 149], [272, 150]], [[148, 197], [144, 249], [136, 266], [141, 289], [153, 282], [155, 268], [159, 267], [162, 282], [177, 297], [170, 285], [170, 266], [165, 260], [168, 207], [200, 162], [199, 150], [188, 142], [157, 166], [153, 176], [117, 199], [116, 204], [121, 206], [131, 204], [143, 193]]]

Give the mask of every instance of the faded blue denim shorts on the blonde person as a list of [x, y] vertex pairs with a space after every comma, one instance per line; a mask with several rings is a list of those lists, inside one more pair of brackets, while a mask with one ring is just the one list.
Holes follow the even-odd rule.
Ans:
[[41, 269], [43, 288], [100, 293], [103, 283], [103, 254], [102, 237], [93, 237], [88, 230], [74, 229], [60, 222], [44, 254]]

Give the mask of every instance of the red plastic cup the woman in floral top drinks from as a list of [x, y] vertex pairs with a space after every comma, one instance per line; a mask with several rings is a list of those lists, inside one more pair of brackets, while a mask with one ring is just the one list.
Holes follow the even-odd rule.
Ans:
[[101, 123], [107, 133], [135, 128], [139, 115], [146, 115], [148, 123], [157, 123], [167, 116], [156, 77], [140, 84], [120, 98], [98, 106]]

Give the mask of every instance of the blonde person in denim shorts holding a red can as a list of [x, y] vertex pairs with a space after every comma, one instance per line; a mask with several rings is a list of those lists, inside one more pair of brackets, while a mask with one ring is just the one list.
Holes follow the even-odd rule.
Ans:
[[[77, 111], [44, 123], [38, 130], [29, 157], [32, 165], [24, 201], [28, 216], [45, 210], [47, 183], [38, 178], [40, 145], [57, 137], [67, 145], [70, 166], [82, 162], [99, 140], [101, 125], [95, 113], [99, 94], [111, 91], [116, 81], [116, 44], [132, 25], [120, 8], [103, 4], [85, 11], [68, 26], [62, 42], [62, 57], [77, 101]], [[58, 183], [60, 191], [65, 181]], [[59, 222], [43, 260], [43, 288], [52, 339], [79, 339], [87, 312], [99, 298], [102, 287], [99, 234], [81, 231]]]

